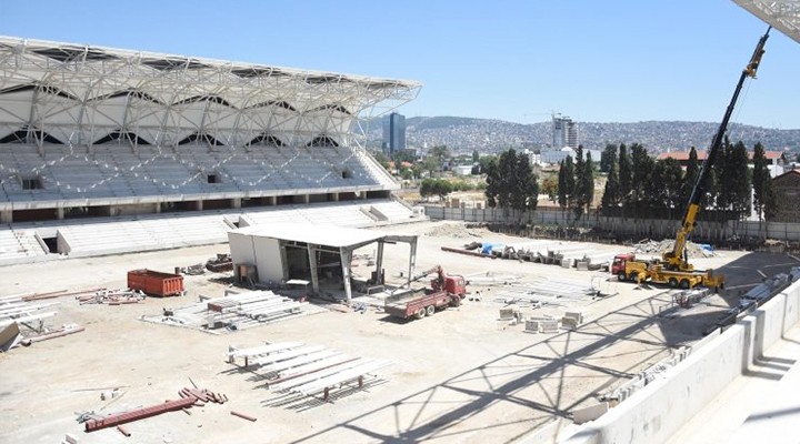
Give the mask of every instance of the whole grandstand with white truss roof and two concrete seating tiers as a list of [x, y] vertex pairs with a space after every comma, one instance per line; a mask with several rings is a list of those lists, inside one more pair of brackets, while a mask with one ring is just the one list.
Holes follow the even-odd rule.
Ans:
[[418, 82], [8, 37], [0, 71], [0, 264], [424, 218], [358, 124]]

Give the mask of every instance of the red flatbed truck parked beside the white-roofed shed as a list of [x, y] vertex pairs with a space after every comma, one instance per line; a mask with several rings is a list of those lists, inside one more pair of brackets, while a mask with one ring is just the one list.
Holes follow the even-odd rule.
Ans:
[[396, 317], [422, 319], [436, 313], [437, 309], [461, 305], [461, 300], [467, 294], [467, 281], [463, 276], [444, 274], [442, 268], [437, 265], [412, 282], [433, 273], [437, 278], [431, 280], [430, 289], [410, 291], [397, 300], [387, 299], [383, 311]]

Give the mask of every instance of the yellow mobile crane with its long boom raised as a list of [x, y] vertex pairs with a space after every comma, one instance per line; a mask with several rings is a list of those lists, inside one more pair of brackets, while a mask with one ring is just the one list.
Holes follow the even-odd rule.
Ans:
[[736, 90], [733, 91], [733, 97], [728, 104], [722, 122], [711, 142], [711, 148], [709, 148], [706, 160], [700, 168], [700, 174], [698, 174], [697, 181], [694, 182], [681, 228], [676, 234], [674, 246], [671, 251], [664, 252], [660, 261], [637, 260], [631, 253], [618, 254], [611, 264], [611, 272], [617, 274], [620, 281], [650, 281], [682, 289], [691, 289], [696, 285], [703, 285], [714, 290], [724, 287], [723, 275], [713, 274], [713, 270], [694, 270], [694, 266], [687, 260], [686, 243], [694, 230], [697, 213], [700, 211], [700, 201], [706, 193], [706, 180], [711, 171], [711, 165], [713, 165], [717, 153], [722, 147], [722, 140], [728, 131], [728, 122], [733, 113], [733, 107], [736, 107], [736, 102], [739, 99], [744, 79], [748, 77], [752, 79], [756, 78], [756, 71], [758, 71], [759, 63], [761, 63], [761, 57], [764, 53], [763, 47], [769, 38], [770, 29], [772, 29], [772, 27], [768, 28], [767, 32], [761, 36], [761, 39], [759, 39], [756, 46], [756, 51], [753, 51], [750, 58], [750, 63], [742, 70], [739, 83], [737, 83]]

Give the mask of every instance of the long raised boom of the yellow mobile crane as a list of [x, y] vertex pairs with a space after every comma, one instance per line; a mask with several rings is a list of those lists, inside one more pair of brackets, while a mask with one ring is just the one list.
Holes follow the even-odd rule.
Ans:
[[741, 92], [742, 85], [744, 84], [744, 80], [748, 77], [752, 79], [756, 78], [756, 72], [758, 71], [759, 63], [761, 63], [761, 57], [764, 53], [763, 47], [764, 43], [767, 43], [767, 39], [769, 38], [770, 29], [772, 29], [772, 27], [767, 28], [767, 32], [764, 32], [764, 34], [761, 36], [761, 39], [759, 39], [759, 42], [756, 46], [756, 50], [750, 58], [750, 62], [747, 64], [747, 67], [744, 67], [741, 75], [739, 77], [739, 82], [737, 83], [736, 90], [733, 90], [733, 97], [731, 97], [728, 109], [726, 109], [726, 113], [722, 117], [719, 129], [717, 130], [717, 133], [714, 134], [714, 138], [711, 142], [711, 148], [709, 148], [706, 160], [700, 168], [700, 174], [698, 174], [694, 186], [692, 188], [692, 193], [689, 196], [689, 203], [687, 204], [686, 213], [683, 214], [681, 228], [676, 234], [674, 246], [672, 248], [672, 251], [668, 251], [663, 254], [664, 266], [669, 270], [693, 270], [693, 266], [688, 263], [684, 256], [686, 243], [689, 235], [694, 230], [694, 221], [697, 219], [697, 213], [700, 210], [700, 200], [706, 192], [706, 180], [708, 179], [711, 167], [714, 163], [717, 153], [722, 147], [724, 134], [728, 131], [728, 122], [730, 121], [731, 114], [733, 113], [733, 108], [736, 107], [737, 100], [739, 100], [739, 93]]

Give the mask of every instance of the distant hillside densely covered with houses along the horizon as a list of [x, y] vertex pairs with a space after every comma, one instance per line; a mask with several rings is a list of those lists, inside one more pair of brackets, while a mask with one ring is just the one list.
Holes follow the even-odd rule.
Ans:
[[[719, 123], [648, 121], [636, 123], [579, 122], [580, 141], [587, 149], [602, 150], [608, 143], [638, 142], [650, 152], [686, 151], [690, 147], [706, 149]], [[509, 148], [548, 149], [552, 144], [550, 122], [531, 124], [502, 120], [459, 117], [417, 117], [406, 120], [406, 140], [410, 147], [447, 145], [452, 151], [499, 152]], [[380, 119], [364, 124], [371, 147], [380, 147]], [[800, 152], [800, 130], [778, 130], [732, 124], [728, 134], [732, 141], [743, 141], [752, 149], [761, 142], [767, 150]]]

